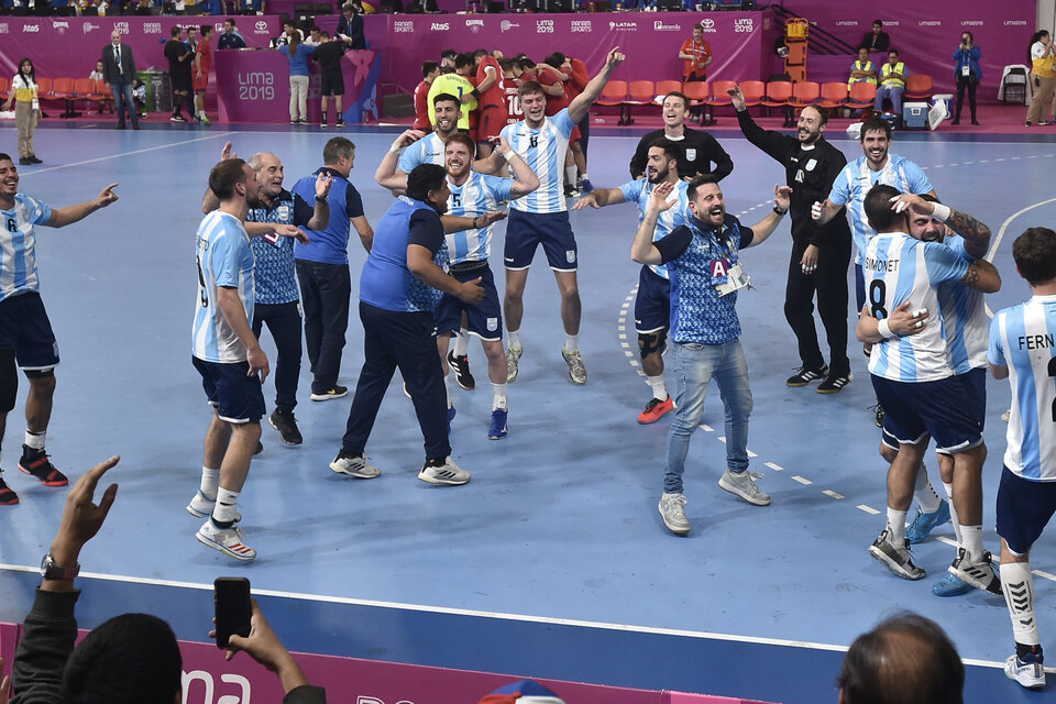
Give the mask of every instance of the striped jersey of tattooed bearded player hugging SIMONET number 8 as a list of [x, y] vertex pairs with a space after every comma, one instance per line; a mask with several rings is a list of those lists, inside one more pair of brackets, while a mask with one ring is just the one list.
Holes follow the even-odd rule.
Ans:
[[[976, 258], [965, 249], [965, 239], [959, 234], [946, 237], [943, 244], [969, 264]], [[987, 367], [987, 332], [990, 320], [982, 292], [961, 286], [955, 282], [941, 284], [938, 306], [946, 327], [946, 345], [954, 374], [967, 374], [971, 370]]]

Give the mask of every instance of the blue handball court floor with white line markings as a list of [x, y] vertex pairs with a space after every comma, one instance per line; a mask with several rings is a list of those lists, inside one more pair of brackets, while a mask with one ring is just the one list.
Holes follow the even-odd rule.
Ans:
[[[45, 164], [21, 169], [21, 190], [52, 205], [87, 200], [120, 183], [110, 208], [37, 232], [42, 293], [63, 358], [48, 451], [72, 481], [122, 457], [108, 476], [120, 485], [118, 501], [81, 554], [82, 627], [147, 610], [180, 638], [207, 640], [212, 580], [245, 575], [292, 650], [805, 704], [834, 702], [843, 650], [883, 616], [909, 608], [953, 637], [969, 664], [966, 701], [1045, 696], [1020, 689], [1000, 669], [1012, 646], [1000, 597], [932, 595], [953, 558], [948, 526], [914, 550], [928, 571], [922, 582], [895, 579], [866, 552], [883, 524], [886, 469], [868, 409], [869, 375], [851, 332], [855, 381], [843, 393], [784, 385], [798, 365], [782, 312], [788, 221], [744, 255], [755, 288], [738, 301], [755, 396], [751, 469], [762, 473], [772, 506], [749, 506], [716, 486], [725, 455], [713, 387], [686, 469], [693, 531], [676, 538], [660, 521], [669, 419], [636, 422], [649, 392], [636, 365], [638, 266], [629, 246], [637, 219], [634, 205], [624, 205], [572, 215], [586, 386], [568, 380], [557, 288], [542, 255], [526, 294], [526, 351], [509, 388], [505, 440], [486, 438], [491, 394], [483, 353], [471, 344], [479, 387], [455, 387], [452, 428], [454, 457], [473, 472], [470, 484], [439, 488], [416, 479], [421, 439], [398, 381], [367, 447], [382, 476], [364, 482], [330, 472], [351, 396], [307, 400], [306, 361], [296, 411], [305, 443], [285, 448], [265, 424], [265, 450], [241, 496], [243, 526], [260, 557], [243, 565], [205, 549], [194, 539], [200, 520], [184, 506], [197, 486], [210, 419], [189, 351], [194, 233], [207, 175], [230, 139], [243, 156], [276, 152], [292, 186], [321, 164], [334, 132], [144, 124], [140, 132], [109, 123], [42, 129], [36, 143]], [[855, 158], [860, 147], [842, 127], [834, 122], [829, 136]], [[374, 224], [392, 197], [373, 172], [396, 131], [348, 134], [358, 146], [352, 182]], [[10, 144], [3, 151], [13, 153], [13, 129], [2, 134]], [[637, 141], [627, 130], [608, 134], [596, 132], [590, 146], [598, 187], [627, 180]], [[783, 169], [736, 128], [716, 135], [735, 163], [723, 182], [727, 208], [752, 224], [770, 211]], [[1004, 283], [989, 307], [1027, 298], [1011, 244], [1026, 227], [1056, 220], [1049, 186], [1056, 139], [897, 133], [892, 151], [925, 167], [944, 201], [993, 229], [991, 254]], [[492, 257], [499, 286], [504, 231], [497, 228]], [[350, 250], [354, 289], [365, 254], [354, 238]], [[352, 310], [341, 373], [350, 387], [362, 364], [362, 328]], [[264, 345], [274, 363], [267, 334]], [[2, 455], [22, 498], [0, 509], [6, 622], [20, 622], [30, 606], [36, 565], [66, 496], [16, 470], [21, 384]], [[268, 382], [270, 408], [273, 394]], [[986, 543], [997, 551], [1007, 383], [991, 380], [989, 394]], [[1042, 641], [1056, 652], [1052, 527], [1032, 564]]]

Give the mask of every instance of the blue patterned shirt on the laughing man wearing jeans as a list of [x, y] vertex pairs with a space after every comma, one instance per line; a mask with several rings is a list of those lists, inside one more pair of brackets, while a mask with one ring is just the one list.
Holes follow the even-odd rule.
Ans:
[[740, 337], [737, 292], [719, 296], [716, 286], [739, 262], [738, 251], [755, 233], [727, 213], [721, 232], [695, 217], [653, 243], [671, 278], [671, 339], [723, 344]]

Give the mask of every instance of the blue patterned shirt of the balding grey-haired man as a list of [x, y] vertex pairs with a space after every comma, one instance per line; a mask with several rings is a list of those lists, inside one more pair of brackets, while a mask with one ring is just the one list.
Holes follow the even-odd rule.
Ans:
[[[246, 222], [306, 226], [316, 209], [285, 188], [271, 207], [250, 208]], [[279, 238], [272, 244], [264, 238], [250, 240], [256, 257], [256, 302], [266, 306], [300, 300], [294, 266], [294, 238]]]

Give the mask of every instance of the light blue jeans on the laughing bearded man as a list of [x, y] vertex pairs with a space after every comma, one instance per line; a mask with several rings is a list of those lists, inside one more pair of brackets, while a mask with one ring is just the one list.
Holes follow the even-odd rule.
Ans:
[[748, 470], [748, 416], [751, 389], [748, 363], [740, 340], [723, 344], [674, 343], [675, 411], [668, 436], [668, 466], [663, 491], [682, 493], [682, 473], [690, 450], [690, 436], [704, 413], [707, 384], [715, 377], [726, 409], [726, 466], [730, 472]]

